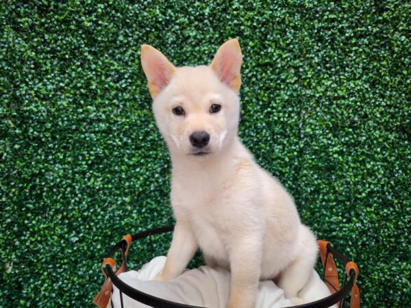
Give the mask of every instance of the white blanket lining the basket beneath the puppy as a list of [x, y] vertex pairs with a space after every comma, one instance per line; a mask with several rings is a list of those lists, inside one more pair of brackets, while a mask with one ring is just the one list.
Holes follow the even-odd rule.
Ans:
[[[171, 300], [176, 303], [210, 308], [227, 307], [229, 298], [230, 272], [222, 268], [201, 266], [195, 270], [186, 270], [171, 281], [153, 281], [164, 268], [166, 257], [155, 257], [138, 272], [129, 270], [119, 278], [137, 290]], [[121, 307], [119, 290], [113, 286], [112, 301], [114, 308]], [[329, 296], [329, 290], [315, 270], [306, 286], [299, 292], [299, 297], [312, 302]], [[123, 294], [125, 308], [147, 308], [149, 306]], [[284, 292], [273, 281], [260, 281], [256, 308], [279, 308], [292, 306], [284, 298]], [[108, 305], [111, 307], [111, 304]], [[333, 306], [335, 307], [335, 306]]]

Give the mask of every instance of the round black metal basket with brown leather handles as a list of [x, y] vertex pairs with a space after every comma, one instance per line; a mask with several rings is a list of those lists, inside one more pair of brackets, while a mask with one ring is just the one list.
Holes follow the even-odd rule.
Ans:
[[[117, 276], [122, 272], [127, 270], [127, 255], [129, 246], [132, 242], [141, 240], [143, 238], [149, 238], [151, 235], [158, 235], [172, 232], [174, 229], [171, 227], [162, 227], [158, 229], [151, 229], [148, 231], [143, 231], [134, 235], [125, 235], [125, 237], [112, 247], [108, 253], [104, 255], [103, 262], [101, 264], [101, 270], [104, 275], [104, 284], [101, 291], [95, 296], [93, 303], [95, 305], [102, 307], [107, 307], [112, 294], [112, 285], [114, 284], [120, 293], [121, 308], [123, 306], [123, 294], [126, 294], [130, 298], [148, 305], [150, 307], [156, 308], [201, 308], [197, 306], [184, 305], [179, 303], [174, 303], [169, 300], [164, 300], [146, 294], [139, 290], [130, 287]], [[322, 279], [329, 288], [331, 295], [322, 298], [321, 300], [316, 300], [315, 302], [293, 306], [295, 308], [327, 308], [332, 305], [338, 304], [338, 307], [346, 307], [346, 302], [349, 300], [349, 307], [359, 308], [360, 307], [360, 291], [356, 284], [358, 277], [358, 267], [353, 261], [349, 261], [349, 258], [340, 253], [332, 246], [331, 243], [319, 240], [319, 250], [321, 256], [321, 264], [323, 266]], [[112, 256], [117, 251], [121, 251], [122, 261], [121, 266], [116, 270], [116, 261], [112, 259]], [[343, 283], [340, 285], [338, 280], [338, 272], [336, 269], [336, 264], [334, 262], [334, 257], [340, 261], [340, 264], [345, 266], [345, 275]], [[351, 296], [349, 294], [351, 293]], [[118, 308], [113, 307], [112, 308]]]

